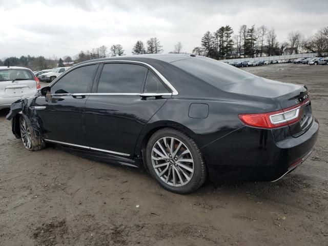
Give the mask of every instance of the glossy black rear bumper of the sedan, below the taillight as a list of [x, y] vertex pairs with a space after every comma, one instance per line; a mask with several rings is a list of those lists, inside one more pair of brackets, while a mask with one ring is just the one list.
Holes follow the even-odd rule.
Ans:
[[275, 181], [310, 156], [318, 130], [317, 120], [296, 138], [288, 127], [273, 131], [244, 126], [201, 150], [213, 181]]

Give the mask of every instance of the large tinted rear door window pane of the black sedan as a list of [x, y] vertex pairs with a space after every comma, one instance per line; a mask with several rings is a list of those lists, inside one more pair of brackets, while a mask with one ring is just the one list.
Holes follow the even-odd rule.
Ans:
[[140, 93], [147, 68], [134, 64], [105, 64], [97, 93]]

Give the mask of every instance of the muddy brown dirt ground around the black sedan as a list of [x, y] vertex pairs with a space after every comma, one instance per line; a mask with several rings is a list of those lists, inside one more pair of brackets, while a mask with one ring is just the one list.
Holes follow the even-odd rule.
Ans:
[[245, 70], [309, 88], [320, 133], [293, 173], [177, 195], [140, 170], [29, 152], [1, 111], [0, 245], [328, 245], [328, 66]]

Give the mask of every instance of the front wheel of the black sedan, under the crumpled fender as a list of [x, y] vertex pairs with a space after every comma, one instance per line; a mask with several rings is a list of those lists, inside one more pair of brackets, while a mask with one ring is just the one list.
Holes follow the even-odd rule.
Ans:
[[42, 137], [36, 135], [31, 125], [31, 121], [26, 115], [19, 117], [19, 128], [20, 137], [22, 138], [23, 145], [26, 149], [37, 151], [46, 147], [46, 143], [43, 141]]

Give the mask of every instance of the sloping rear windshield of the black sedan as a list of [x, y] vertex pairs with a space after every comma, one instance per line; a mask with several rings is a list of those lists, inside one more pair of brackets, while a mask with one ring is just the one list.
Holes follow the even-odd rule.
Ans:
[[207, 57], [177, 60], [171, 64], [221, 90], [227, 89], [238, 82], [257, 77], [239, 68]]

